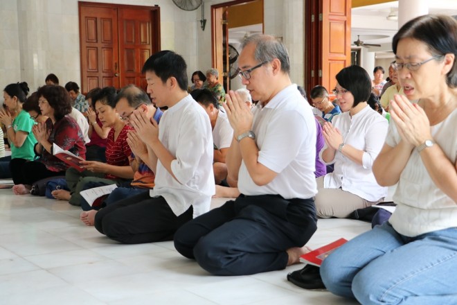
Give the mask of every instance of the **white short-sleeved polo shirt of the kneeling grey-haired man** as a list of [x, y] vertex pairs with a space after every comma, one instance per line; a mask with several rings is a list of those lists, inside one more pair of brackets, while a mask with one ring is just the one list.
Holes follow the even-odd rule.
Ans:
[[253, 107], [252, 130], [259, 149], [258, 162], [278, 173], [264, 186], [253, 182], [244, 162], [238, 188], [244, 195], [281, 195], [285, 199], [312, 198], [317, 193], [315, 171], [316, 121], [311, 106], [295, 84], [269, 103]]

